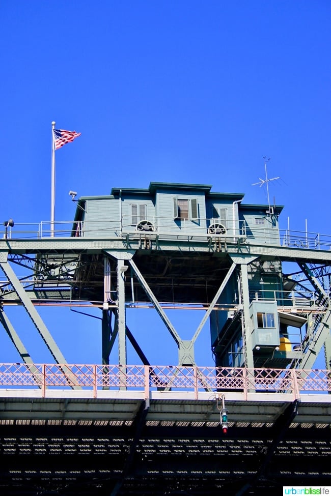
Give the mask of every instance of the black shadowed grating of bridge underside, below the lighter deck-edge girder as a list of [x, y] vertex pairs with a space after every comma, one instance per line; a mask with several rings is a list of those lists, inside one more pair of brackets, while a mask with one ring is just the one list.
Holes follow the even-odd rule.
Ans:
[[2, 494], [262, 496], [330, 481], [329, 425], [292, 424], [272, 449], [280, 431], [267, 423], [236, 423], [227, 436], [194, 422], [89, 424], [1, 425]]

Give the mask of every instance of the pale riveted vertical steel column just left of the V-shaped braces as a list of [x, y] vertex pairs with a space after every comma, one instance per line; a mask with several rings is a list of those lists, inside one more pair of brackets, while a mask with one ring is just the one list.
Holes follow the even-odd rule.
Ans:
[[126, 365], [126, 326], [125, 326], [125, 271], [128, 266], [124, 260], [117, 260], [117, 298], [118, 298], [118, 358], [120, 365]]

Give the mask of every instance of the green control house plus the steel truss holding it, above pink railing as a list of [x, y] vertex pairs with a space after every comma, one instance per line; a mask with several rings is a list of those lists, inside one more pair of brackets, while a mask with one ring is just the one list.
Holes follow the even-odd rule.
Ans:
[[[127, 308], [153, 307], [178, 347], [179, 365], [195, 365], [207, 320], [216, 366], [310, 368], [323, 346], [329, 365], [331, 238], [282, 231], [281, 206], [247, 205], [243, 194], [215, 193], [210, 185], [155, 182], [81, 197], [76, 205], [67, 231], [27, 242], [16, 227], [0, 242], [7, 276], [0, 315], [23, 360], [29, 354], [6, 304], [25, 306], [63, 363], [36, 303], [68, 301], [100, 308], [104, 364], [115, 343], [118, 363], [127, 363], [127, 340], [144, 364], [153, 361], [126, 323]], [[31, 268], [29, 287], [9, 261]], [[173, 308], [205, 310], [190, 339], [172, 324]]]

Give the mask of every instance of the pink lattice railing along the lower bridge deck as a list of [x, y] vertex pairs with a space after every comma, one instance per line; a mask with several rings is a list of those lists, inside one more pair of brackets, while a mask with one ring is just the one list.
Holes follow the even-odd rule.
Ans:
[[[269, 392], [290, 394], [331, 392], [330, 370], [180, 367], [171, 365], [0, 364], [0, 388]], [[1, 396], [1, 393], [0, 393]]]

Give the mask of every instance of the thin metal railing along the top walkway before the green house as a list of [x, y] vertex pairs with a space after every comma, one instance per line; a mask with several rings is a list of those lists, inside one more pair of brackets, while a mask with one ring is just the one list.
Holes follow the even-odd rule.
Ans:
[[100, 221], [50, 221], [34, 224], [17, 223], [0, 231], [0, 239], [50, 239], [50, 238], [126, 238], [142, 235], [157, 235], [160, 239], [188, 236], [199, 240], [223, 239], [227, 243], [270, 244], [288, 248], [309, 250], [331, 250], [331, 236], [317, 232], [294, 231], [273, 227], [249, 226], [244, 220], [226, 222], [226, 230], [217, 228], [217, 219], [174, 219], [152, 217], [151, 228], [140, 228], [131, 223], [131, 217]]

